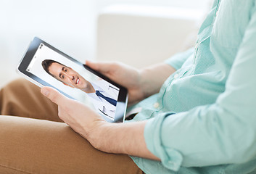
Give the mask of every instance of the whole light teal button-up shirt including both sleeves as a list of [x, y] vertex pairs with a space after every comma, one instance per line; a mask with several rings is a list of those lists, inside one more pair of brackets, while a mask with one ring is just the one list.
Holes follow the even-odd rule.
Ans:
[[[256, 0], [215, 0], [194, 49], [133, 121], [148, 120], [132, 157], [145, 173], [256, 173]], [[152, 84], [154, 85], [154, 84]]]

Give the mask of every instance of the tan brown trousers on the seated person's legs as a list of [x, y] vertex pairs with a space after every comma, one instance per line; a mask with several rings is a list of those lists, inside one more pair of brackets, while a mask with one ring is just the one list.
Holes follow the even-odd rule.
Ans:
[[[0, 91], [0, 173], [143, 173], [125, 154], [94, 149], [27, 80]], [[19, 117], [17, 117], [19, 116]]]

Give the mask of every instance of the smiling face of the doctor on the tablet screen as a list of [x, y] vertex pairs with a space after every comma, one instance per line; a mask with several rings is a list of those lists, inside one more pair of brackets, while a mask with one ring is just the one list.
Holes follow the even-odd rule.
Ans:
[[85, 89], [88, 88], [89, 82], [84, 79], [78, 72], [73, 70], [70, 67], [66, 67], [59, 63], [52, 63], [49, 66], [49, 72], [54, 75], [55, 78], [65, 83], [65, 85], [78, 88], [78, 89]]

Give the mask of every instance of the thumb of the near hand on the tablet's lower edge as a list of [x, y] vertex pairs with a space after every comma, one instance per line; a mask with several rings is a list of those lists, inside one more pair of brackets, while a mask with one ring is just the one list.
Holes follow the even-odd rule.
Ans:
[[41, 94], [44, 94], [44, 96], [48, 97], [52, 102], [58, 105], [63, 105], [67, 102], [66, 96], [60, 94], [59, 91], [51, 87], [41, 88]]

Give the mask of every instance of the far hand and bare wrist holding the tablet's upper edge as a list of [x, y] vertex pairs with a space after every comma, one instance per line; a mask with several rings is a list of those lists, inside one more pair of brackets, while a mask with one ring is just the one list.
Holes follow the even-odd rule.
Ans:
[[135, 104], [157, 93], [162, 83], [176, 70], [165, 63], [137, 70], [119, 62], [90, 62], [86, 65], [128, 88], [129, 102]]

